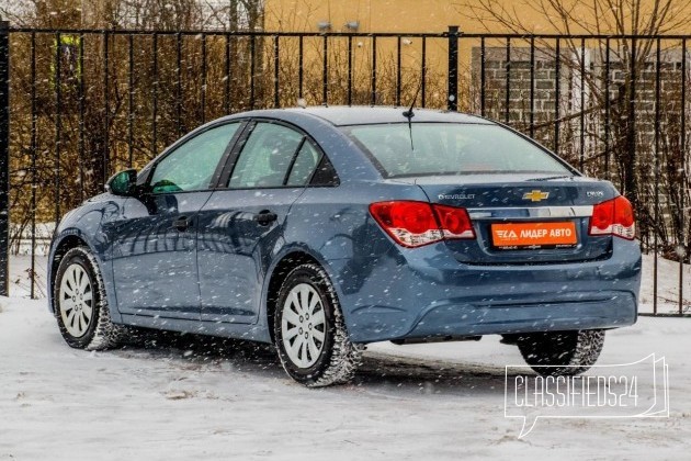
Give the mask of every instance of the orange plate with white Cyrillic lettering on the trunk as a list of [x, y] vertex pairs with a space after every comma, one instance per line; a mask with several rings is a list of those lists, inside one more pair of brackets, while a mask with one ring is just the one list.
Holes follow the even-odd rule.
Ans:
[[491, 225], [491, 243], [497, 249], [569, 248], [577, 241], [573, 222]]

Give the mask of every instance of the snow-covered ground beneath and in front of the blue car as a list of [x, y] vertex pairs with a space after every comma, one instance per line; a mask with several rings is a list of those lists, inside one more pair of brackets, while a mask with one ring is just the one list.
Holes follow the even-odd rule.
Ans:
[[608, 333], [600, 364], [666, 358], [670, 417], [541, 419], [519, 439], [503, 392], [522, 360], [497, 337], [371, 345], [352, 384], [307, 390], [267, 346], [156, 334], [87, 352], [45, 301], [0, 297], [0, 460], [688, 460], [690, 350], [687, 318]]

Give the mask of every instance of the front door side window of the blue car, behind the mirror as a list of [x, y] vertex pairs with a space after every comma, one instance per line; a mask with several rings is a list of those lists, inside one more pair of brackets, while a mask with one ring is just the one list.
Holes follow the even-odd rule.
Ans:
[[214, 171], [239, 126], [239, 122], [215, 126], [166, 156], [155, 167], [151, 192], [208, 189]]

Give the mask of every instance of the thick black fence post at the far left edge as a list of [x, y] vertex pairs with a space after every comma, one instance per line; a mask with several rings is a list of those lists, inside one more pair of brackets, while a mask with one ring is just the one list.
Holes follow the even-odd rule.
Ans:
[[0, 295], [10, 293], [10, 23], [0, 18]]

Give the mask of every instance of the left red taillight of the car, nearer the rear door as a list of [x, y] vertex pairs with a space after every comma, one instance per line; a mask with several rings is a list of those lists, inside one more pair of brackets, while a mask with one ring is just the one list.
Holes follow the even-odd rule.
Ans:
[[444, 238], [475, 238], [465, 209], [392, 201], [371, 204], [370, 213], [394, 240], [405, 247], [420, 247]]

